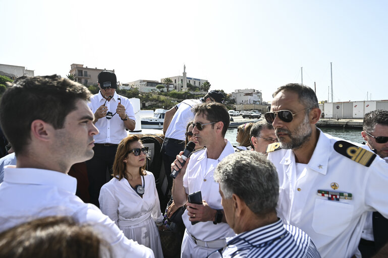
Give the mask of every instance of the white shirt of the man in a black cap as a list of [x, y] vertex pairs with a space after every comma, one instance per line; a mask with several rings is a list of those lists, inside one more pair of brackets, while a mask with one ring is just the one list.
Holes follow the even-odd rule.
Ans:
[[[121, 99], [121, 104], [125, 107], [125, 112], [128, 115], [129, 119], [136, 121], [135, 114], [133, 112], [133, 107], [128, 98], [121, 96], [115, 92], [113, 98], [109, 101], [106, 101], [106, 106], [108, 111], [112, 114], [116, 113], [117, 105], [119, 105], [119, 99]], [[88, 103], [89, 108], [92, 110], [93, 114], [101, 105], [103, 105], [105, 99], [102, 97], [101, 92], [94, 94], [90, 98]], [[124, 121], [121, 120], [118, 114], [115, 114], [112, 118], [106, 119], [106, 117], [101, 117], [95, 123], [95, 126], [99, 130], [99, 134], [94, 136], [95, 143], [111, 143], [119, 144], [121, 140], [127, 137], [127, 132], [125, 131]]]

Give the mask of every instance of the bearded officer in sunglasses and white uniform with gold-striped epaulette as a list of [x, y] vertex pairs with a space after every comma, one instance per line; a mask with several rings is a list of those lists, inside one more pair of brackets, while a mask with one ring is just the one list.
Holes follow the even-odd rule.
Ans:
[[265, 118], [279, 140], [267, 149], [279, 174], [279, 217], [305, 231], [322, 257], [360, 257], [368, 211], [388, 216], [388, 165], [361, 144], [323, 134], [311, 88], [288, 84], [272, 96]]

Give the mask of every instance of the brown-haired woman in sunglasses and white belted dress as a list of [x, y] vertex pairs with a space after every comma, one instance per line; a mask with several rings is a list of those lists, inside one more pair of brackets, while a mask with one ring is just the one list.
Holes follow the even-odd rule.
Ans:
[[144, 169], [147, 153], [138, 136], [124, 138], [117, 147], [114, 177], [101, 187], [98, 201], [126, 237], [151, 248], [155, 257], [163, 257], [157, 228], [162, 227], [163, 215], [155, 178]]

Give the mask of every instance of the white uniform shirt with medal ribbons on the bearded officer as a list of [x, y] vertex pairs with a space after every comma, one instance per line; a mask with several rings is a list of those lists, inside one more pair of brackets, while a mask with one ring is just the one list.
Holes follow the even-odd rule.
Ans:
[[[319, 131], [299, 179], [292, 150], [268, 154], [279, 174], [278, 216], [305, 231], [322, 257], [360, 257], [357, 246], [367, 212], [377, 210], [388, 217], [388, 165], [378, 156], [370, 167], [345, 157], [333, 148], [339, 140]], [[332, 183], [339, 188], [332, 189]], [[352, 193], [353, 198], [331, 201], [318, 196], [317, 190]]]

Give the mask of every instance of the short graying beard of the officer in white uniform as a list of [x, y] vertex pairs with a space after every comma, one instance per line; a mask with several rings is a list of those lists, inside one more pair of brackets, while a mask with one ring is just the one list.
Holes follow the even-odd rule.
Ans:
[[[286, 133], [290, 137], [290, 142], [285, 142], [284, 138], [282, 140], [282, 137], [279, 138], [279, 133]], [[294, 132], [291, 132], [290, 130], [284, 129], [284, 128], [278, 128], [275, 130], [275, 135], [279, 139], [280, 147], [282, 149], [298, 149], [300, 148], [305, 142], [308, 142], [308, 140], [311, 137], [312, 129], [310, 127], [309, 123], [309, 116], [308, 114], [305, 115], [303, 122], [298, 125], [298, 127], [295, 128]]]

